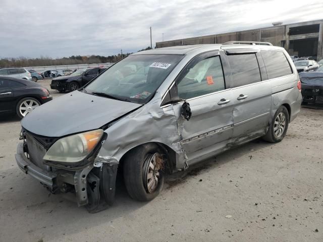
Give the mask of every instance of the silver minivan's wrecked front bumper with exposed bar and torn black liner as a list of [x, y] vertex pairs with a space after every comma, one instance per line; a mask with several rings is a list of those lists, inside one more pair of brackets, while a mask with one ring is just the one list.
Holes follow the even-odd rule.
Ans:
[[90, 164], [79, 170], [40, 168], [28, 158], [23, 143], [18, 144], [16, 161], [19, 168], [34, 177], [51, 193], [73, 192], [78, 206], [95, 213], [112, 205], [115, 200], [118, 164]]

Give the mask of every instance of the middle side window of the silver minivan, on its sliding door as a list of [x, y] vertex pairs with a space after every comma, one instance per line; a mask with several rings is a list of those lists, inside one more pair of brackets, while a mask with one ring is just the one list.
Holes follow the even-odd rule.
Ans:
[[232, 87], [261, 81], [256, 54], [228, 55], [232, 73]]

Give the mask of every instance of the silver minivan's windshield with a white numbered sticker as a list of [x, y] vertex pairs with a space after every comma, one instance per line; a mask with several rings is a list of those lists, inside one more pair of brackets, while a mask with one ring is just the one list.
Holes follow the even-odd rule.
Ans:
[[130, 55], [85, 87], [87, 93], [147, 103], [183, 55]]

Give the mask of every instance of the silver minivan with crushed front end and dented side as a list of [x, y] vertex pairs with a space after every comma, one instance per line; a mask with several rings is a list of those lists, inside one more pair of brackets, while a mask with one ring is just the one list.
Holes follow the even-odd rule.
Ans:
[[16, 160], [89, 212], [114, 202], [117, 173], [130, 197], [149, 201], [166, 173], [259, 137], [280, 142], [300, 111], [300, 90], [281, 47], [140, 51], [24, 117]]

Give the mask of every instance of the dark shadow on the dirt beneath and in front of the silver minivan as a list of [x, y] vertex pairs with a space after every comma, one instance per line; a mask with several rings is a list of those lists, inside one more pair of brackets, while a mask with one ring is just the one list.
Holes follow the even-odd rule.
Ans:
[[[131, 217], [134, 211], [147, 206], [151, 209], [154, 204], [164, 203], [164, 194], [167, 190], [174, 188], [179, 184], [185, 183], [197, 174], [209, 171], [209, 169], [218, 168], [222, 164], [230, 162], [233, 159], [239, 159], [241, 156], [252, 154], [253, 150], [260, 150], [264, 147], [274, 144], [266, 143], [262, 140], [254, 140], [233, 150], [226, 151], [217, 157], [205, 160], [198, 165], [190, 167], [186, 171], [180, 171], [172, 175], [167, 175], [166, 186], [159, 196], [150, 202], [137, 202], [132, 200], [125, 189], [122, 176], [117, 178], [116, 200], [113, 206], [95, 214], [89, 214], [84, 207], [77, 207], [73, 194], [50, 195], [46, 190], [32, 177], [24, 174], [17, 167], [10, 168], [0, 172], [2, 177], [3, 190], [0, 196], [3, 198], [0, 202], [3, 215], [11, 218], [20, 214], [28, 220], [29, 226], [23, 228], [27, 232], [30, 229], [38, 230], [39, 233], [45, 233], [47, 236], [57, 240], [62, 239], [65, 235], [78, 233], [82, 230], [96, 227], [102, 222], [111, 222], [107, 225], [107, 232], [113, 232], [113, 221], [120, 217]], [[251, 159], [251, 158], [250, 158]], [[174, 193], [173, 196], [176, 196]], [[146, 209], [146, 208], [145, 208]], [[10, 212], [8, 212], [10, 211]], [[55, 219], [59, 218], [59, 219]], [[64, 221], [64, 223], [62, 223]], [[89, 222], [90, 221], [90, 222]], [[77, 223], [73, 230], [65, 228], [66, 224]], [[46, 224], [45, 227], [44, 224]], [[112, 227], [110, 227], [112, 226]], [[58, 233], [58, 231], [61, 231]]]

